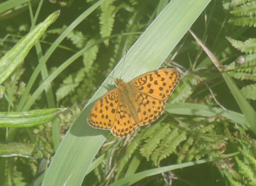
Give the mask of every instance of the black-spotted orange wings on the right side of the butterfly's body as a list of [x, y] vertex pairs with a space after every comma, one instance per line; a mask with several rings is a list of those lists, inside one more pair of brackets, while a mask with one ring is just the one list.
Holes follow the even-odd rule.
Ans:
[[166, 99], [173, 93], [179, 80], [180, 72], [167, 68], [144, 73], [129, 82], [137, 103], [139, 125], [152, 123], [162, 115]]

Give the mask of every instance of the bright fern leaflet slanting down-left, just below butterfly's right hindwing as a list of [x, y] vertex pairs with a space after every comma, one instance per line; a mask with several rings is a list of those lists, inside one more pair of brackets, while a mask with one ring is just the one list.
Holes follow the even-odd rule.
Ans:
[[147, 161], [150, 160], [150, 155], [157, 148], [160, 141], [170, 132], [169, 124], [164, 123], [162, 125], [154, 132], [154, 136], [145, 140], [146, 143], [140, 149], [141, 155], [146, 157]]

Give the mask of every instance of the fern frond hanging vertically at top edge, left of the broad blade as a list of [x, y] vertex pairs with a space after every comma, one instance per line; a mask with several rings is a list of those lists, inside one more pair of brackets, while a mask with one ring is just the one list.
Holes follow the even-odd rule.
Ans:
[[[100, 5], [101, 14], [99, 17], [100, 23], [100, 35], [101, 37], [108, 37], [110, 36], [114, 21], [115, 21], [115, 7], [111, 5], [114, 0], [106, 0], [104, 3]], [[109, 45], [109, 40], [104, 41], [105, 45]]]

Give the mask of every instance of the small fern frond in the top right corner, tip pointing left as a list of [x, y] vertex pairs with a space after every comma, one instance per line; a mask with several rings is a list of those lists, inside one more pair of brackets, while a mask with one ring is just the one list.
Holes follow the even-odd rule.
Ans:
[[237, 16], [252, 16], [255, 15], [256, 12], [256, 2], [248, 2], [242, 4], [241, 6], [234, 7], [234, 9], [230, 12], [231, 14]]

